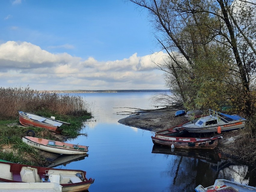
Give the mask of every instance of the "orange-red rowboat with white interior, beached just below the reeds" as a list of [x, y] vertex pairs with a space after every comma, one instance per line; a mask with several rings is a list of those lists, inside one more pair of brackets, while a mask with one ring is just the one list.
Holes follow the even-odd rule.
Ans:
[[22, 124], [23, 126], [41, 127], [52, 132], [61, 133], [62, 129], [60, 129], [59, 127], [62, 124], [70, 125], [70, 123], [55, 120], [54, 118], [55, 117], [48, 118], [36, 115], [34, 113], [19, 111], [20, 124]]

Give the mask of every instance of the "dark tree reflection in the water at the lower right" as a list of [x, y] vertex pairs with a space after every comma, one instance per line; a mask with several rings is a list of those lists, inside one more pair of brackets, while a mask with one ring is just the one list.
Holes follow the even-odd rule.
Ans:
[[210, 186], [215, 179], [227, 179], [251, 186], [256, 185], [256, 169], [234, 165], [226, 160], [209, 162], [192, 157], [175, 156], [168, 166], [167, 174], [172, 179], [170, 192], [191, 192], [199, 184]]

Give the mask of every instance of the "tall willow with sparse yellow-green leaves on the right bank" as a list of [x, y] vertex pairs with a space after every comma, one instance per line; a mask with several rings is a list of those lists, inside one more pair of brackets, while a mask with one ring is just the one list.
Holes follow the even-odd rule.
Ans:
[[253, 115], [254, 5], [245, 10], [246, 2], [236, 1], [130, 1], [148, 10], [169, 55], [165, 64], [156, 64], [188, 108], [226, 102]]

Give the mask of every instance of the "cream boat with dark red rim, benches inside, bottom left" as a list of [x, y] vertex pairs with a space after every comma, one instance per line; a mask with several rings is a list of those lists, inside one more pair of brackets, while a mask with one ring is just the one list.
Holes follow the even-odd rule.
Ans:
[[80, 192], [88, 190], [94, 179], [87, 179], [82, 170], [0, 162], [0, 182], [57, 183], [62, 186], [62, 192]]

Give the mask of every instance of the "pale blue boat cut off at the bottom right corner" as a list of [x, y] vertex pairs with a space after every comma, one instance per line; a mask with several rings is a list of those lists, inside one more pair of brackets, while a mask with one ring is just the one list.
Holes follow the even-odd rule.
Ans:
[[204, 188], [202, 185], [198, 185], [195, 190], [197, 192], [252, 192], [256, 191], [256, 187], [241, 184], [226, 179], [216, 179], [214, 185]]

